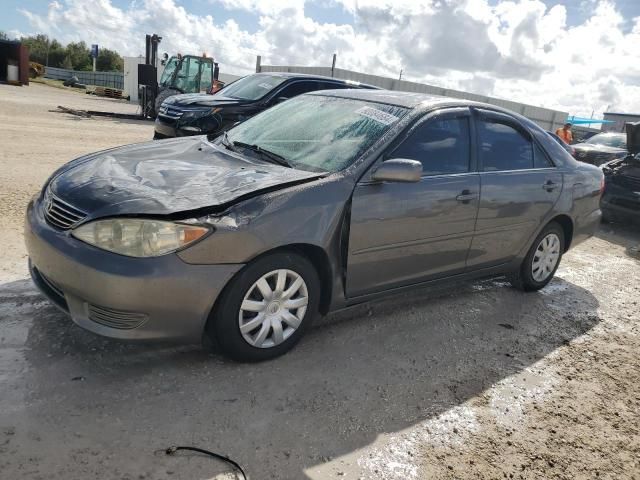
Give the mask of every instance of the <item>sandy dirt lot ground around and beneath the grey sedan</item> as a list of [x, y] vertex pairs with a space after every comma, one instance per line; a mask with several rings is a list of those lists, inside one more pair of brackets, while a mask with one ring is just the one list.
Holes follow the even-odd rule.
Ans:
[[[275, 361], [122, 344], [74, 326], [27, 279], [28, 198], [60, 164], [144, 141], [134, 111], [0, 86], [0, 477], [640, 479], [640, 230], [603, 226], [543, 291], [499, 280], [318, 322]], [[224, 478], [232, 478], [224, 476]]]

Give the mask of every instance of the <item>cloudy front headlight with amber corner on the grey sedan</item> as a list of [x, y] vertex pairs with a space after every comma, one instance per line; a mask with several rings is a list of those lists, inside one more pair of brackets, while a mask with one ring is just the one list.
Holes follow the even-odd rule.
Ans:
[[80, 225], [71, 234], [90, 245], [121, 255], [157, 257], [185, 247], [209, 231], [206, 227], [184, 223], [113, 218]]

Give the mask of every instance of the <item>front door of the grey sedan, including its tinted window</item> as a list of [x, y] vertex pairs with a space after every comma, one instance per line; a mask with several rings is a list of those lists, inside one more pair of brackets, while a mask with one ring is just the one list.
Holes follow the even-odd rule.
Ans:
[[[371, 182], [353, 193], [347, 296], [460, 273], [478, 211], [480, 180], [466, 108], [431, 114], [384, 156], [418, 160], [417, 183]], [[375, 166], [374, 166], [375, 168]]]

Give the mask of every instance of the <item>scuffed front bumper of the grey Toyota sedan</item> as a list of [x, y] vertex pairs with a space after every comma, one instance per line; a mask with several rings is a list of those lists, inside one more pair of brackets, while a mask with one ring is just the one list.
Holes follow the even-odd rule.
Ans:
[[49, 226], [34, 202], [25, 241], [36, 286], [79, 326], [118, 339], [199, 342], [215, 300], [242, 268], [106, 252]]

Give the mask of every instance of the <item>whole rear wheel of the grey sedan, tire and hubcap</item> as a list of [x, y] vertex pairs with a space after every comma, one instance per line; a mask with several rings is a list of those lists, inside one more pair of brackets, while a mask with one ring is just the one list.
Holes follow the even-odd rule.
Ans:
[[[545, 241], [544, 245], [543, 241]], [[565, 238], [562, 227], [556, 222], [549, 223], [536, 237], [520, 268], [507, 275], [511, 285], [524, 292], [534, 292], [544, 288], [551, 281], [560, 265], [564, 245]], [[555, 255], [552, 255], [552, 252]], [[545, 258], [548, 259], [548, 263], [544, 261]], [[552, 260], [555, 263], [552, 263]]]

